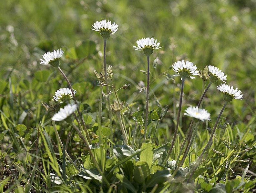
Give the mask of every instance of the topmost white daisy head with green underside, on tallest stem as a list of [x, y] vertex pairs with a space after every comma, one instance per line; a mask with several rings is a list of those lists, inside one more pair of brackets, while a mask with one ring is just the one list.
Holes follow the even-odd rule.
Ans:
[[118, 24], [111, 23], [111, 21], [105, 19], [105, 20], [101, 20], [100, 22], [96, 22], [92, 25], [93, 28], [91, 28], [92, 30], [99, 32], [100, 35], [103, 38], [109, 38], [111, 34], [117, 32], [118, 30]]

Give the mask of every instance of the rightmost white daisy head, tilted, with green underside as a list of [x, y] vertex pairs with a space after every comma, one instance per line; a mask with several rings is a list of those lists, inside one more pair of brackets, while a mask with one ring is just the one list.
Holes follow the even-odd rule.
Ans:
[[222, 83], [221, 85], [217, 86], [217, 89], [224, 94], [223, 99], [227, 102], [232, 101], [233, 98], [242, 100], [243, 95], [241, 94], [241, 90], [233, 89], [233, 86], [229, 86], [227, 84]]

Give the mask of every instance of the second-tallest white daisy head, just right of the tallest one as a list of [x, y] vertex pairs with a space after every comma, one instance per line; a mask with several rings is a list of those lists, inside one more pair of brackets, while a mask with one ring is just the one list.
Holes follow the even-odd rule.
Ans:
[[133, 46], [135, 48], [135, 50], [138, 50], [138, 51], [143, 51], [145, 55], [149, 56], [150, 54], [153, 53], [154, 50], [157, 50], [159, 48], [162, 48], [162, 47], [159, 47], [160, 45], [160, 41], [157, 42], [157, 40], [155, 40], [154, 38], [142, 38], [138, 41], [136, 41], [137, 46]]

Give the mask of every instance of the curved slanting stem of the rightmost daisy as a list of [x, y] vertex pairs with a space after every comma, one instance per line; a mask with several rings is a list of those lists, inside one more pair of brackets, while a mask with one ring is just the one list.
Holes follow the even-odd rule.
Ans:
[[211, 143], [211, 140], [212, 140], [212, 138], [213, 138], [213, 135], [214, 135], [215, 130], [216, 130], [216, 128], [217, 128], [217, 125], [218, 125], [218, 123], [219, 123], [220, 116], [221, 116], [221, 114], [223, 113], [223, 111], [224, 111], [224, 109], [225, 109], [225, 107], [226, 107], [227, 104], [228, 104], [228, 102], [225, 101], [225, 103], [224, 103], [224, 105], [223, 105], [223, 107], [222, 107], [222, 109], [221, 109], [221, 111], [220, 111], [220, 114], [219, 114], [219, 116], [218, 116], [218, 118], [217, 118], [217, 120], [216, 120], [216, 123], [215, 123], [215, 125], [214, 125], [214, 128], [213, 128], [213, 131], [212, 131], [212, 133], [211, 133], [211, 136], [210, 136], [209, 141], [207, 142], [207, 144], [206, 144], [205, 148], [203, 149], [201, 155], [199, 156], [199, 158], [197, 159], [196, 163], [193, 165], [193, 167], [191, 168], [191, 170], [189, 171], [189, 173], [187, 174], [186, 177], [189, 177], [189, 178], [190, 178], [191, 175], [192, 175], [192, 174], [195, 172], [195, 170], [198, 168], [200, 162], [202, 161], [203, 155], [204, 155], [205, 151], [208, 149], [208, 147], [209, 147], [209, 145], [210, 145], [210, 143]]

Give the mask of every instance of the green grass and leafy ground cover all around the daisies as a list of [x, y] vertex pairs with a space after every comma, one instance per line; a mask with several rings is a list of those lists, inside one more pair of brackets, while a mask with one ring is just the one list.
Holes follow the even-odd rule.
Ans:
[[[255, 191], [256, 12], [252, 0], [10, 0], [0, 6], [0, 12], [0, 192]], [[99, 132], [99, 87], [94, 74], [94, 70], [100, 72], [103, 68], [103, 39], [91, 30], [91, 25], [102, 19], [119, 25], [107, 41], [106, 62], [107, 66], [113, 66], [113, 82], [109, 80], [109, 84], [116, 90], [130, 84], [117, 95], [120, 102], [126, 101], [123, 123], [128, 133], [131, 128], [131, 141], [135, 138], [134, 149], [122, 146], [122, 133], [113, 114], [115, 157], [106, 159], [105, 154], [110, 156], [108, 105], [103, 97], [102, 132]], [[167, 114], [159, 120], [153, 146], [142, 143], [143, 127], [139, 124], [133, 135], [132, 114], [138, 110], [145, 112], [146, 106], [146, 92], [139, 92], [139, 82], [146, 84], [147, 80], [146, 56], [133, 46], [146, 37], [157, 39], [163, 46], [150, 56], [149, 111], [161, 106], [163, 112], [169, 105]], [[57, 89], [68, 86], [58, 70], [39, 65], [45, 52], [60, 48], [65, 50], [61, 69], [77, 90], [81, 113], [84, 117], [88, 115], [91, 149], [103, 176], [92, 164], [79, 134], [62, 121], [57, 122], [57, 130], [66, 150], [79, 167], [84, 167], [78, 172], [69, 161], [64, 161], [50, 115], [43, 108], [42, 103], [48, 103]], [[154, 68], [156, 57], [160, 62]], [[218, 81], [210, 87], [203, 103], [212, 121], [199, 124], [183, 169], [175, 178], [170, 177], [173, 170], [168, 171], [161, 163], [176, 125], [181, 81], [169, 67], [178, 60], [189, 60], [201, 70], [208, 65], [220, 68], [228, 76], [227, 83], [244, 94], [243, 100], [234, 99], [225, 108], [222, 127], [217, 128], [213, 144], [190, 179], [184, 177], [185, 168], [190, 168], [200, 156], [210, 137], [207, 128], [213, 128], [224, 101], [216, 89]], [[197, 105], [201, 85], [199, 77], [185, 81], [179, 135], [167, 165], [170, 169], [191, 121], [183, 115], [184, 110]], [[105, 88], [103, 91], [106, 93]], [[111, 104], [114, 100], [112, 90]], [[157, 121], [153, 121], [148, 126], [148, 142], [156, 125]], [[246, 145], [238, 148], [237, 144], [242, 142]], [[252, 149], [238, 153], [248, 148]], [[143, 151], [138, 152], [139, 149]], [[154, 155], [160, 152], [160, 157], [152, 159], [152, 151]], [[231, 156], [233, 153], [240, 157]], [[227, 159], [234, 173], [225, 168]], [[60, 183], [54, 182], [53, 176]]]

